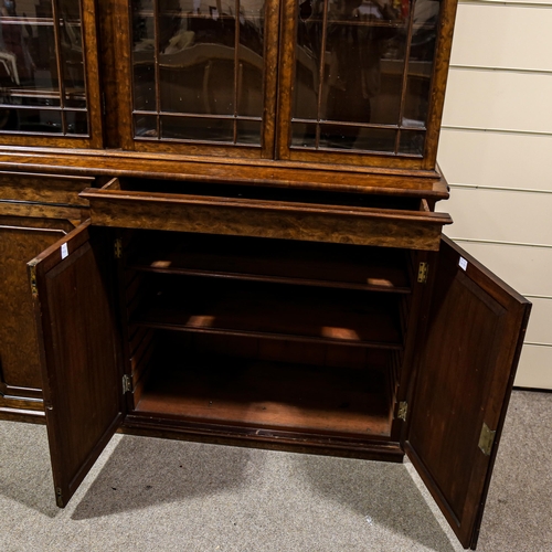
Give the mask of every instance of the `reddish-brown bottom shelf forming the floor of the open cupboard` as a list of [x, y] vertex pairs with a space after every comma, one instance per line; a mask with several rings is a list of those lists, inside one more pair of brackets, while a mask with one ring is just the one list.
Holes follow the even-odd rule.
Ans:
[[187, 358], [181, 351], [151, 367], [136, 414], [295, 431], [389, 436], [384, 367], [343, 370]]

